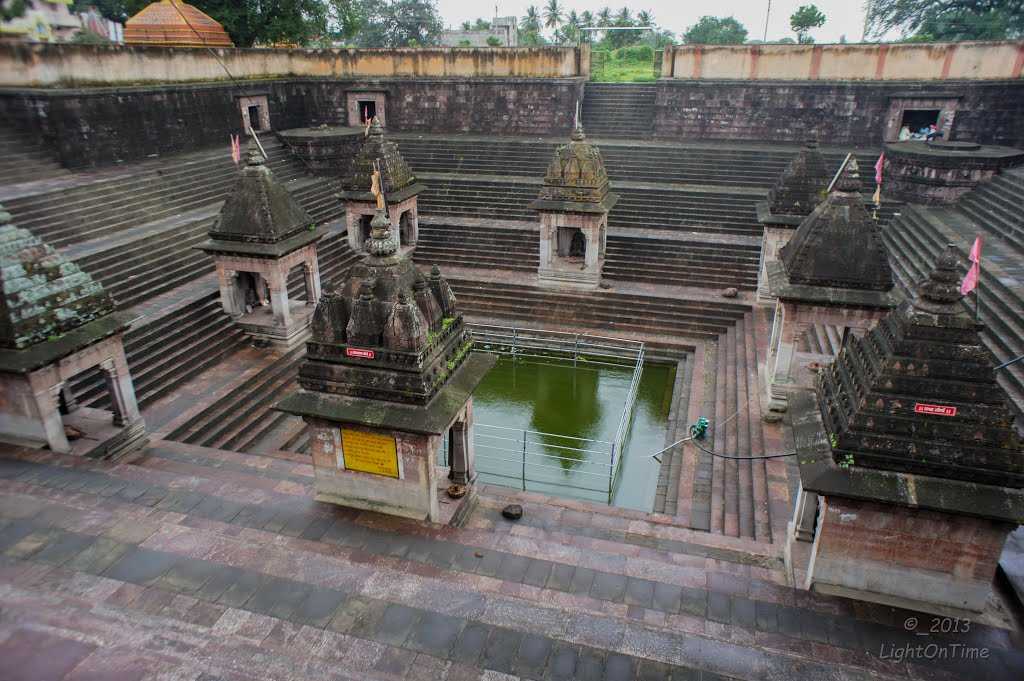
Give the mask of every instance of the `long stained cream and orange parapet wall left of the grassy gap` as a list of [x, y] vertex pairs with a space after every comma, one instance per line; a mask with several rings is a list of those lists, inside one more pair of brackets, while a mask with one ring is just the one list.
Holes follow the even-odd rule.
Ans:
[[0, 86], [104, 86], [281, 77], [568, 78], [572, 47], [218, 49], [0, 44]]

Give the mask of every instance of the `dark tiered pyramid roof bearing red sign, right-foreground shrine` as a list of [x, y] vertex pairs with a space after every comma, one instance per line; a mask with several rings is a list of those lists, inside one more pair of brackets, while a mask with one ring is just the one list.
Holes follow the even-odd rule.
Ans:
[[950, 245], [909, 299], [819, 375], [837, 463], [1024, 487], [1014, 414], [958, 282]]

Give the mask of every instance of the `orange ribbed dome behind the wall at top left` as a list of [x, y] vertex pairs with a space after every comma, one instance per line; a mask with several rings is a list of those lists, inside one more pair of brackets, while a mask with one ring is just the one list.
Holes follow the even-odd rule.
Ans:
[[125, 44], [234, 47], [224, 27], [180, 0], [160, 0], [125, 22]]

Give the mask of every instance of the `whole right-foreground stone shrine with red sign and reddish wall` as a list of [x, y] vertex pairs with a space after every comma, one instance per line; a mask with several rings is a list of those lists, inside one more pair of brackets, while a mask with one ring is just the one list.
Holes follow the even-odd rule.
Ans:
[[821, 501], [808, 588], [940, 613], [985, 607], [1024, 521], [1024, 448], [956, 261], [950, 245], [910, 300], [847, 343], [816, 394], [793, 397], [800, 496]]

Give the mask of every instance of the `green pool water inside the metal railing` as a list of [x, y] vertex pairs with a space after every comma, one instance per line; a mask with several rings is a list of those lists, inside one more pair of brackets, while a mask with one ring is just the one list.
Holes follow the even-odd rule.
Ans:
[[676, 367], [643, 367], [623, 453], [611, 462], [632, 367], [501, 355], [473, 393], [480, 481], [650, 511]]

